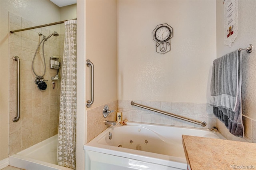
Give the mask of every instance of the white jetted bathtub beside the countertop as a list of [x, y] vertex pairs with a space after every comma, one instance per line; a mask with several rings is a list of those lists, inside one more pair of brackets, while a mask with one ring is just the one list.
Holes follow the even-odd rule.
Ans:
[[220, 132], [202, 128], [127, 124], [111, 125], [84, 145], [86, 170], [187, 170], [182, 134], [225, 139]]

